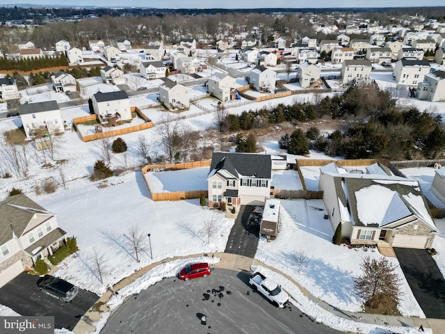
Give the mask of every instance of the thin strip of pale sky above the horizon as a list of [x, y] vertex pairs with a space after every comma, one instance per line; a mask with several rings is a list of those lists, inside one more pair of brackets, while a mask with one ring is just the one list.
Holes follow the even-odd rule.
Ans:
[[33, 3], [65, 6], [125, 6], [154, 8], [356, 8], [444, 6], [444, 0], [0, 0], [0, 4]]

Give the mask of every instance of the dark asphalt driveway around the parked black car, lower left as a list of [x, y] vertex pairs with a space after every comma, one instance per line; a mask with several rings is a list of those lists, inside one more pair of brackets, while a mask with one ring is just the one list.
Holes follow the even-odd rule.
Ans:
[[65, 303], [44, 294], [37, 286], [39, 276], [21, 273], [0, 289], [0, 304], [20, 315], [54, 315], [54, 326], [72, 330], [79, 319], [99, 299], [96, 294], [79, 289], [79, 294]]

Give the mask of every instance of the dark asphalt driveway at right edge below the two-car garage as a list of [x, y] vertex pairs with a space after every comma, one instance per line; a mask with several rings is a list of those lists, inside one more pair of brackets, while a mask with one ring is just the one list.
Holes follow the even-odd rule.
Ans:
[[435, 260], [425, 249], [394, 248], [394, 251], [426, 317], [445, 319], [445, 280]]

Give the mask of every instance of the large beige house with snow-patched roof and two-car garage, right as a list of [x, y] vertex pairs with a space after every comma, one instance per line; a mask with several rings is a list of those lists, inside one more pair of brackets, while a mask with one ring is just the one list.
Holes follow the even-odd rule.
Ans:
[[[355, 168], [354, 168], [355, 169]], [[318, 188], [332, 228], [351, 244], [430, 248], [439, 232], [419, 182], [381, 164], [362, 173], [331, 163], [320, 168]]]

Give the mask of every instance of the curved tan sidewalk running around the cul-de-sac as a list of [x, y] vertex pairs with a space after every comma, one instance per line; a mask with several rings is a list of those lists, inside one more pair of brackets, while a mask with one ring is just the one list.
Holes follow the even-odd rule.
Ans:
[[[350, 319], [350, 320], [357, 321], [357, 322], [362, 322], [362, 323], [366, 323], [366, 324], [375, 324], [375, 325], [380, 325], [380, 326], [403, 326], [403, 327], [419, 328], [419, 326], [422, 324], [424, 328], [431, 328], [433, 334], [443, 333], [443, 328], [445, 328], [445, 320], [442, 320], [442, 319], [420, 319], [419, 317], [396, 317], [396, 316], [388, 316], [388, 315], [373, 315], [373, 314], [369, 314], [369, 313], [358, 313], [358, 312], [348, 312], [348, 311], [339, 310], [335, 306], [325, 303], [324, 301], [321, 301], [320, 299], [312, 296], [307, 291], [307, 289], [305, 289], [304, 287], [299, 285], [295, 280], [293, 280], [293, 278], [286, 275], [285, 273], [278, 271], [277, 269], [274, 269], [273, 267], [268, 266], [267, 264], [264, 264], [262, 262], [254, 260], [250, 257], [245, 257], [245, 256], [241, 256], [241, 255], [236, 255], [236, 254], [213, 253], [213, 255], [216, 257], [220, 257], [220, 259], [221, 259], [220, 262], [213, 265], [213, 267], [215, 267], [215, 268], [250, 272], [251, 271], [250, 268], [252, 265], [259, 265], [262, 267], [266, 267], [272, 271], [275, 271], [276, 273], [279, 273], [280, 275], [284, 276], [286, 279], [290, 280], [311, 301], [316, 303], [321, 308], [332, 313], [333, 315], [336, 315], [337, 317], [342, 317], [342, 318]], [[137, 278], [140, 278], [141, 276], [145, 275], [145, 273], [147, 273], [148, 271], [150, 271], [151, 269], [153, 269], [154, 267], [158, 266], [159, 264], [161, 264], [163, 262], [182, 260], [182, 259], [186, 259], [186, 258], [201, 257], [201, 256], [202, 256], [202, 253], [188, 255], [188, 256], [173, 257], [168, 260], [154, 262], [154, 263], [150, 264], [149, 266], [144, 267], [143, 269], [140, 269], [139, 271], [136, 271], [131, 276], [124, 278], [120, 282], [113, 285], [113, 291], [118, 292], [120, 289], [133, 283]], [[88, 312], [86, 312], [86, 314], [83, 315], [83, 317], [81, 317], [81, 320], [74, 327], [73, 332], [76, 334], [88, 334], [88, 333], [95, 331], [95, 327], [92, 326], [92, 323], [101, 319], [103, 312], [109, 311], [106, 303], [111, 299], [111, 296], [112, 296], [112, 292], [107, 291], [106, 294], [104, 294], [102, 297], [100, 297], [99, 300], [95, 303], [95, 305], [92, 305], [90, 310], [88, 310]]]

